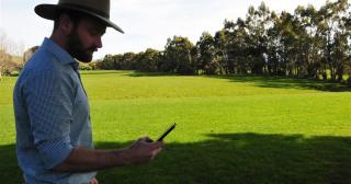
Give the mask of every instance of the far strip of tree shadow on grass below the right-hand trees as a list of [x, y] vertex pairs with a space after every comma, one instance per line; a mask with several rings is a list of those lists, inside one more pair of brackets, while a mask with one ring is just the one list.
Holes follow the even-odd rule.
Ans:
[[249, 83], [260, 88], [302, 89], [327, 92], [351, 92], [347, 84], [316, 79], [268, 77], [268, 76], [208, 76], [208, 78], [227, 79], [231, 82]]

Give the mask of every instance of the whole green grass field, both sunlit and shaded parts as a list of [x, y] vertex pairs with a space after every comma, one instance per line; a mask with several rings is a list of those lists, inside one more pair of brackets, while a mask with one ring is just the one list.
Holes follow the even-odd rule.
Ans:
[[[98, 148], [176, 130], [155, 161], [100, 171], [102, 184], [350, 184], [351, 90], [273, 77], [82, 73]], [[0, 181], [21, 183], [12, 89], [0, 82]]]

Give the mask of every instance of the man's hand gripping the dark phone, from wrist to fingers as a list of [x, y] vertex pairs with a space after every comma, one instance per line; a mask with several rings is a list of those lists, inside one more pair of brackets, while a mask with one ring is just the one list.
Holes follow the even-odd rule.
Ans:
[[124, 150], [126, 164], [137, 164], [152, 160], [161, 151], [162, 146], [162, 141], [152, 141], [148, 137], [138, 139]]

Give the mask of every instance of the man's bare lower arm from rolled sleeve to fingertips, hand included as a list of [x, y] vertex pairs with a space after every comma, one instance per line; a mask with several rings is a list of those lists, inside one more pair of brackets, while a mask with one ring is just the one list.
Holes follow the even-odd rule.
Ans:
[[147, 137], [140, 138], [132, 146], [120, 150], [93, 150], [77, 147], [63, 163], [54, 166], [54, 171], [88, 172], [147, 162], [154, 159], [163, 146], [160, 141], [148, 142], [148, 140]]

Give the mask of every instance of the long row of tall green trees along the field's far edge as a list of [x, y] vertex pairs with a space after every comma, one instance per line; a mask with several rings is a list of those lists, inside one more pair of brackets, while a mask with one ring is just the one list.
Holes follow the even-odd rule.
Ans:
[[276, 13], [262, 2], [246, 19], [224, 21], [197, 43], [168, 38], [165, 50], [106, 55], [97, 67], [180, 74], [271, 74], [322, 78], [351, 83], [351, 12], [348, 0], [327, 1], [319, 10], [297, 7]]

